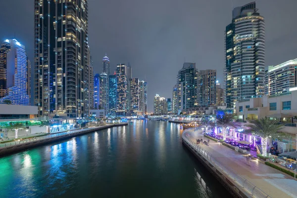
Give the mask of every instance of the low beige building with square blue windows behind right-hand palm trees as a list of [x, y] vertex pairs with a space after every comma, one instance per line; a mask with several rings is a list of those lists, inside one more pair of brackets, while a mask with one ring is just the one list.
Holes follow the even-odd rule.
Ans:
[[294, 117], [297, 116], [297, 100], [295, 98], [297, 98], [297, 87], [289, 88], [286, 93], [236, 101], [237, 119], [243, 125], [249, 120], [266, 117], [280, 120], [284, 125], [281, 131], [287, 133], [288, 137], [278, 141], [278, 150], [280, 153], [296, 150], [297, 120]]

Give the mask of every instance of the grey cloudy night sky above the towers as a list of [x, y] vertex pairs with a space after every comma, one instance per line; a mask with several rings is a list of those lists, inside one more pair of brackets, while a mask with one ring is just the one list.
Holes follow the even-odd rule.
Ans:
[[[89, 44], [94, 70], [107, 53], [110, 71], [130, 62], [133, 77], [148, 81], [148, 111], [153, 96], [172, 97], [176, 75], [186, 62], [216, 69], [223, 80], [224, 31], [232, 9], [251, 0], [88, 0]], [[15, 38], [34, 56], [34, 0], [0, 0], [0, 40]], [[297, 0], [258, 0], [265, 17], [265, 62], [297, 58]], [[32, 66], [34, 63], [32, 63]]]

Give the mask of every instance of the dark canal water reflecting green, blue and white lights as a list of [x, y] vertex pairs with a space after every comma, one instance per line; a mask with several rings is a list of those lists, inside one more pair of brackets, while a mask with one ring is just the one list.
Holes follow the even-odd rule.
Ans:
[[181, 136], [138, 120], [0, 158], [0, 198], [230, 198]]

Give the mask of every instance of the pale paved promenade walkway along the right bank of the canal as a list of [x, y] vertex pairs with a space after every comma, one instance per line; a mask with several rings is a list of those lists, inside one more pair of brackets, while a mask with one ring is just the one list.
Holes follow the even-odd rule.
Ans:
[[[202, 139], [201, 130], [189, 130], [192, 141]], [[204, 137], [204, 140], [207, 139]], [[245, 155], [242, 155], [228, 147], [210, 140], [210, 145], [199, 144], [212, 156], [223, 164], [242, 175], [272, 198], [297, 198], [297, 181], [290, 175], [265, 165], [257, 160], [251, 160], [247, 165]]]

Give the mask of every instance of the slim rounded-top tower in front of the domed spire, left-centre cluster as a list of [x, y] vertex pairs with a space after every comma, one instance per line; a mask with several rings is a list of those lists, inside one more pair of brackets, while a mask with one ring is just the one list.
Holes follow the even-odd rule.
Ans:
[[101, 73], [100, 80], [100, 109], [104, 109], [105, 114], [108, 112], [108, 76]]

